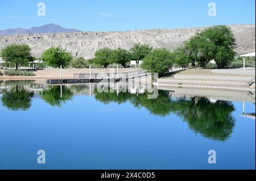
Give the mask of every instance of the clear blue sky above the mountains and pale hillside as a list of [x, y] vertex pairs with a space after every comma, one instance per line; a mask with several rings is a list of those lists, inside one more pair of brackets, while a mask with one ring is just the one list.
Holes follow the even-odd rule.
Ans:
[[[44, 2], [46, 16], [38, 16]], [[217, 15], [208, 15], [208, 3]], [[83, 31], [122, 31], [254, 24], [254, 0], [0, 0], [0, 30], [55, 23]]]

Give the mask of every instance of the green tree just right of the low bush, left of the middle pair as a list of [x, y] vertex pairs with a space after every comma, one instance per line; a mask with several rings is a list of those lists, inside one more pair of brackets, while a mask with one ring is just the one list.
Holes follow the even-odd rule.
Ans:
[[109, 57], [112, 54], [112, 49], [102, 48], [95, 52], [93, 62], [96, 65], [104, 66], [105, 68], [110, 64]]

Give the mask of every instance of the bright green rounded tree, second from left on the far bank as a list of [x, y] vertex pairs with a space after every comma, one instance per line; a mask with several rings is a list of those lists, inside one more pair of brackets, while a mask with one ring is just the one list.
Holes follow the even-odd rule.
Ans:
[[60, 66], [65, 68], [65, 66], [68, 66], [73, 60], [73, 57], [70, 52], [67, 52], [59, 46], [45, 50], [42, 53], [42, 60], [46, 62], [47, 65], [53, 66], [54, 68], [59, 68]]

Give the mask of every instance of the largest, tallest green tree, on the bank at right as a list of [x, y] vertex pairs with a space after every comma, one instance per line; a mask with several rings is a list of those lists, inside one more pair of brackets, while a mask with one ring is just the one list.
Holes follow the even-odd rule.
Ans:
[[236, 39], [227, 26], [213, 26], [197, 33], [184, 45], [187, 55], [199, 65], [206, 67], [210, 60], [215, 60], [218, 68], [225, 68], [234, 60]]

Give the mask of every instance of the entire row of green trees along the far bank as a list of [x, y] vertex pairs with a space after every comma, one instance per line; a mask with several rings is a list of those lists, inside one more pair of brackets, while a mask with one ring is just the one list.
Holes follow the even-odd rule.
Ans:
[[[196, 33], [173, 52], [138, 43], [129, 50], [102, 48], [95, 52], [94, 58], [85, 60], [83, 57], [73, 59], [70, 52], [59, 46], [45, 50], [40, 60], [54, 68], [60, 65], [64, 68], [67, 66], [88, 68], [89, 65], [107, 68], [112, 64], [127, 68], [131, 60], [143, 60], [141, 65], [143, 69], [163, 76], [173, 66], [205, 68], [211, 60], [216, 62], [217, 68], [226, 68], [236, 56], [235, 48], [236, 39], [232, 30], [227, 26], [213, 26]], [[30, 50], [28, 45], [9, 45], [2, 50], [1, 57], [18, 69], [18, 66], [26, 65], [36, 59], [31, 56]]]

